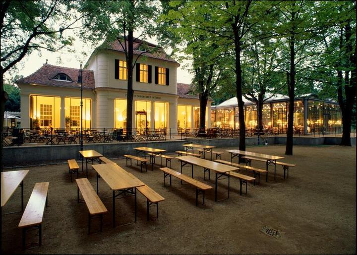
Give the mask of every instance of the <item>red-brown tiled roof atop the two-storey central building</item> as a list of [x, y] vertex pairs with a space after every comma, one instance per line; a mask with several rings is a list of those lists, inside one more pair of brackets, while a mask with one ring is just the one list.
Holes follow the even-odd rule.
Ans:
[[[141, 45], [143, 45], [143, 44], [147, 45], [149, 48], [155, 48], [156, 47], [157, 48], [157, 49], [155, 49], [156, 52], [142, 53], [143, 51], [140, 51], [139, 47]], [[127, 43], [126, 43], [126, 47], [127, 47]], [[166, 52], [163, 50], [163, 48], [161, 48], [159, 46], [156, 46], [154, 44], [151, 44], [151, 43], [136, 39], [134, 44], [133, 44], [133, 48], [134, 48], [134, 54], [135, 55], [139, 55], [139, 54], [142, 53], [141, 55], [143, 55], [143, 56], [152, 57], [152, 58], [156, 58], [156, 59], [162, 59], [162, 60], [166, 60], [166, 61], [170, 61], [170, 62], [174, 62], [174, 63], [179, 64], [178, 62], [176, 62], [175, 59], [169, 57], [169, 55], [166, 54]], [[107, 49], [124, 52], [124, 49], [121, 47], [121, 45], [118, 42], [118, 40], [115, 40], [115, 41], [109, 43]]]

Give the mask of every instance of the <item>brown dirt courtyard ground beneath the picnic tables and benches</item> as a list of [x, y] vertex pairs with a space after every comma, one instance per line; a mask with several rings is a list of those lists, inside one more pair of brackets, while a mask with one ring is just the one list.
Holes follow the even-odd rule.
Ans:
[[[216, 149], [224, 152], [229, 149]], [[230, 198], [214, 201], [214, 174], [203, 180], [203, 169], [194, 167], [194, 178], [213, 187], [206, 192], [205, 204], [195, 206], [195, 189], [180, 184], [173, 177], [172, 186], [164, 187], [164, 174], [156, 164], [141, 173], [133, 161], [114, 161], [134, 174], [165, 198], [150, 209], [146, 220], [146, 198], [137, 195], [137, 222], [134, 221], [133, 197], [116, 201], [117, 227], [112, 227], [112, 197], [109, 186], [99, 179], [100, 198], [108, 209], [103, 232], [99, 220], [92, 221], [92, 234], [87, 234], [88, 210], [77, 204], [76, 182], [70, 182], [67, 164], [43, 165], [8, 170], [30, 169], [24, 179], [26, 206], [36, 182], [49, 181], [48, 207], [42, 224], [42, 247], [21, 248], [22, 232], [17, 225], [21, 212], [2, 216], [2, 250], [4, 254], [355, 254], [356, 253], [356, 147], [295, 146], [294, 155], [286, 156], [285, 146], [247, 147], [246, 151], [281, 155], [280, 160], [296, 163], [289, 178], [277, 166], [277, 178], [271, 166], [269, 181], [261, 176], [260, 185], [248, 184], [248, 194], [239, 196], [239, 181], [231, 178]], [[133, 152], [132, 154], [135, 154]], [[34, 155], [36, 156], [36, 155]], [[105, 156], [105, 155], [104, 155]], [[222, 159], [230, 160], [224, 153]], [[16, 160], [16, 159], [14, 159]], [[160, 160], [156, 159], [156, 162]], [[236, 162], [238, 159], [235, 160]], [[257, 161], [252, 166], [265, 168]], [[172, 168], [179, 171], [179, 162]], [[96, 187], [96, 174], [91, 169], [88, 179]], [[240, 171], [251, 175], [250, 172]], [[190, 167], [183, 173], [190, 175]], [[85, 177], [85, 171], [79, 173]], [[207, 177], [207, 176], [206, 176]], [[227, 197], [227, 179], [218, 182], [219, 199]], [[2, 213], [21, 208], [18, 188]], [[245, 188], [244, 188], [245, 190]], [[199, 195], [199, 201], [202, 201]], [[132, 223], [132, 224], [126, 224]], [[264, 234], [270, 226], [279, 237]], [[38, 242], [37, 230], [27, 234], [27, 245]]]

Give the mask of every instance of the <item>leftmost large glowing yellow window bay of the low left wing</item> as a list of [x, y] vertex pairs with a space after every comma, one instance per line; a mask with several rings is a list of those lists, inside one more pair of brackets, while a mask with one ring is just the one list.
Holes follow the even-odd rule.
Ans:
[[30, 96], [30, 128], [60, 128], [60, 98]]

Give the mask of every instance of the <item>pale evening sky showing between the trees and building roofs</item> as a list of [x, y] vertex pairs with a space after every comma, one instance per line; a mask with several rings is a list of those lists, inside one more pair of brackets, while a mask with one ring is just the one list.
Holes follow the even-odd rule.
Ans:
[[[156, 41], [156, 38], [151, 38], [151, 39], [148, 38], [146, 41], [148, 41], [149, 43], [160, 45]], [[84, 65], [87, 62], [90, 54], [94, 50], [93, 48], [88, 47], [80, 40], [75, 40], [72, 48], [74, 48], [75, 53], [67, 52], [66, 50], [62, 50], [58, 52], [50, 52], [46, 50], [40, 52], [39, 51], [32, 52], [30, 55], [24, 57], [19, 64], [17, 64], [16, 70], [5, 75], [5, 79], [11, 79], [11, 77], [13, 77], [15, 74], [23, 75], [24, 77], [26, 77], [34, 73], [44, 63], [46, 63], [46, 59], [48, 59], [48, 64], [71, 67], [71, 68], [79, 68], [80, 63]], [[83, 55], [81, 53], [82, 51], [86, 51], [87, 56]], [[177, 82], [179, 83], [187, 83], [187, 84], [191, 83], [192, 75], [189, 73], [187, 69], [183, 69], [183, 65], [187, 63], [188, 62], [180, 63], [180, 67], [178, 68], [178, 74], [177, 74]]]

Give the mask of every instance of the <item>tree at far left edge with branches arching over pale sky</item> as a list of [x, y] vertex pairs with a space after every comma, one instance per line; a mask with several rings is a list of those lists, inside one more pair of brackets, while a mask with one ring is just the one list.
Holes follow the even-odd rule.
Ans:
[[[59, 51], [70, 46], [73, 37], [64, 32], [75, 29], [82, 18], [75, 11], [76, 6], [76, 1], [65, 0], [1, 0], [0, 127], [3, 126], [4, 105], [8, 98], [3, 88], [4, 75], [31, 52]], [[0, 150], [2, 154], [2, 143]], [[2, 157], [0, 169], [3, 169]]]

